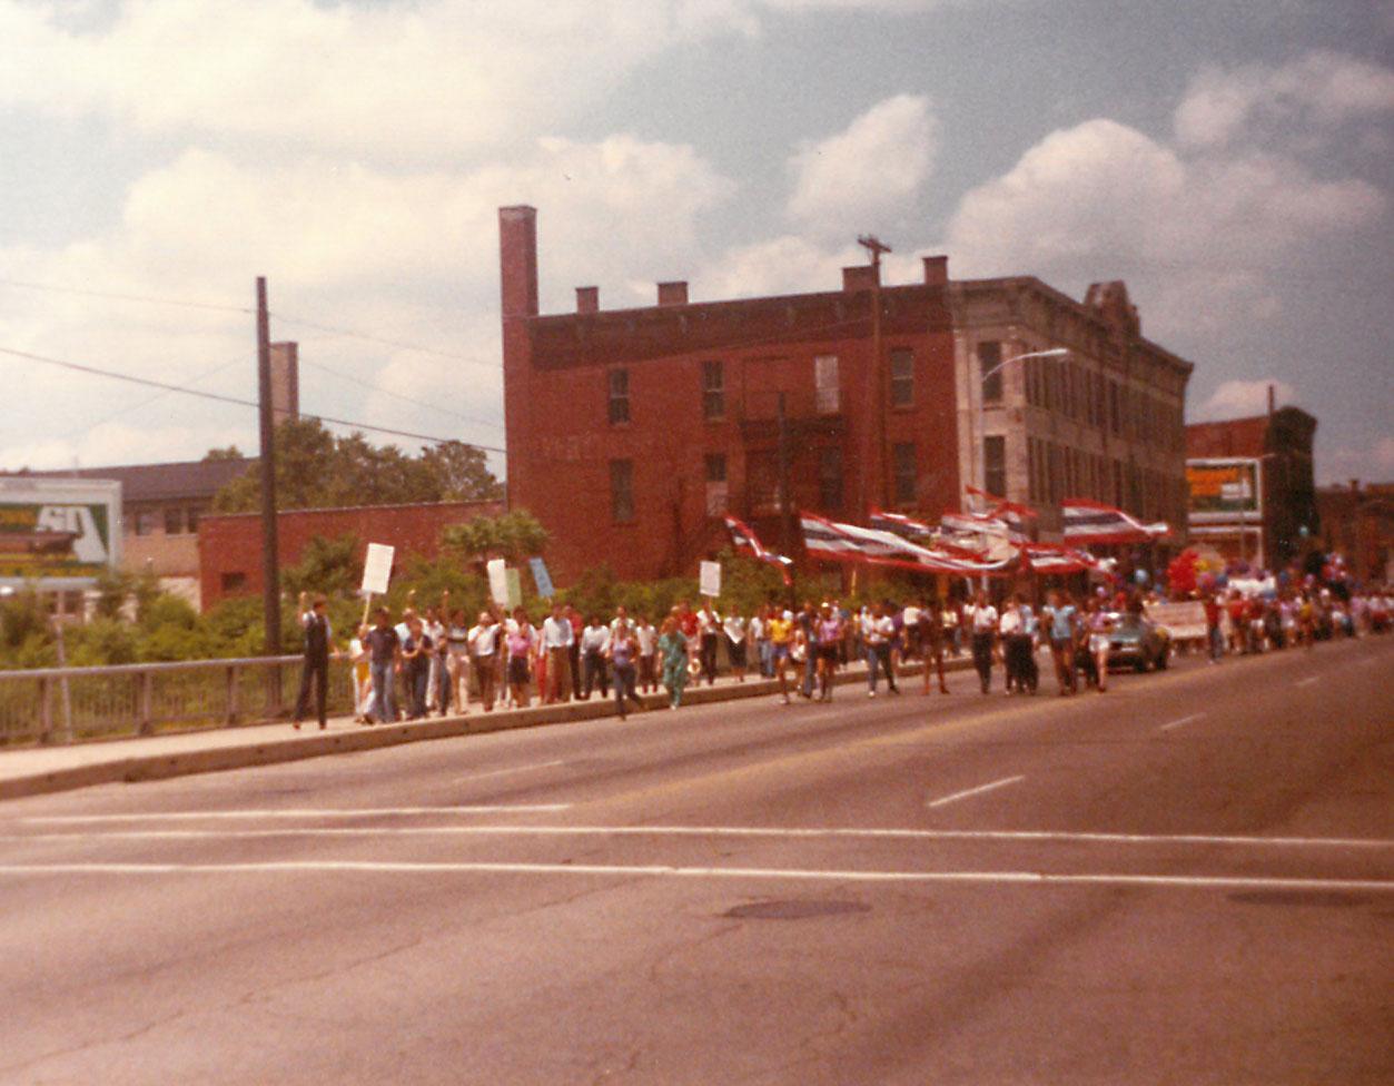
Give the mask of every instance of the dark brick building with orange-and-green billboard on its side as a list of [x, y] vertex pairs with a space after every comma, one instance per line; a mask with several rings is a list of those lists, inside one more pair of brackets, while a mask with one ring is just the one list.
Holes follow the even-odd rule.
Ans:
[[[1299, 558], [1319, 528], [1312, 460], [1315, 436], [1316, 418], [1301, 407], [1188, 425], [1192, 538], [1209, 542], [1225, 558], [1242, 558], [1269, 569]], [[1217, 516], [1202, 510], [1206, 496], [1202, 484], [1230, 464], [1236, 474], [1227, 505], [1242, 503], [1245, 512], [1231, 509]]]

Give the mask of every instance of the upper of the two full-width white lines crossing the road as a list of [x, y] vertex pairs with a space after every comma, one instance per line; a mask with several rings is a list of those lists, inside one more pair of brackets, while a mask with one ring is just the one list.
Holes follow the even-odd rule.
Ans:
[[1085, 845], [1230, 845], [1285, 849], [1394, 849], [1377, 838], [1207, 836], [1200, 834], [1089, 834], [1054, 829], [878, 829], [857, 827], [782, 828], [758, 825], [378, 825], [280, 827], [276, 829], [116, 829], [100, 832], [7, 834], [0, 841], [209, 841], [291, 836], [728, 836], [852, 838], [884, 841], [998, 841]]

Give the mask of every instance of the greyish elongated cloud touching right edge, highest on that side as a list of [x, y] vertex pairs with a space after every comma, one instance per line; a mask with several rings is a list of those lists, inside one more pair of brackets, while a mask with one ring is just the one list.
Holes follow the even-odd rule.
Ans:
[[1190, 146], [1221, 146], [1255, 131], [1331, 128], [1394, 112], [1394, 70], [1326, 50], [1288, 64], [1211, 68], [1192, 79], [1174, 123]]

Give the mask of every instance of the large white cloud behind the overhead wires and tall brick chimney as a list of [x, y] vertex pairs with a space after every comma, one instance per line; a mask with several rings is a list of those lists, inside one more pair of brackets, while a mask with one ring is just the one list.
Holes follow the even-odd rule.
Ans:
[[[250, 307], [254, 277], [266, 275], [273, 336], [302, 343], [304, 410], [499, 445], [500, 431], [487, 425], [502, 400], [498, 208], [541, 209], [544, 308], [569, 308], [576, 283], [623, 283], [636, 272], [658, 279], [700, 263], [697, 219], [732, 191], [690, 146], [626, 135], [534, 141], [513, 162], [460, 173], [396, 174], [322, 158], [252, 167], [192, 149], [137, 181], [112, 230], [53, 251], [0, 248], [0, 277]], [[14, 297], [18, 304], [0, 308], [0, 346], [201, 386], [208, 382], [198, 375], [236, 361], [209, 381], [226, 379], [216, 390], [254, 397], [247, 312], [79, 293]], [[461, 357], [397, 350], [282, 315]], [[57, 420], [42, 438], [14, 438], [0, 449], [0, 467], [128, 459], [127, 432], [99, 425], [123, 406], [149, 420], [149, 454], [199, 456], [244, 410], [177, 396], [167, 410], [145, 410], [138, 406], [149, 393], [141, 389], [3, 355], [0, 378], [24, 381], [31, 418]]]

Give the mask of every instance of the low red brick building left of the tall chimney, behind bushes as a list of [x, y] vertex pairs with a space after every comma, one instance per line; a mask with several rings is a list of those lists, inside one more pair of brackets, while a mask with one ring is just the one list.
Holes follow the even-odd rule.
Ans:
[[[432, 505], [376, 505], [353, 509], [297, 509], [277, 517], [280, 566], [301, 559], [316, 535], [335, 540], [355, 535], [397, 548], [397, 563], [408, 555], [435, 558], [441, 533], [450, 524], [502, 512], [498, 502], [439, 502]], [[261, 513], [205, 513], [198, 521], [201, 601], [206, 611], [234, 595], [262, 590]]]

